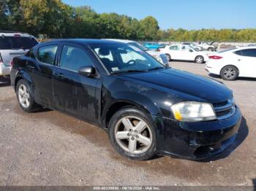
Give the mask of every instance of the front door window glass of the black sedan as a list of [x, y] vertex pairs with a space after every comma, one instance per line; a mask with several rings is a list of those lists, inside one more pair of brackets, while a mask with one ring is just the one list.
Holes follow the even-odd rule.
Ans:
[[70, 71], [78, 71], [82, 66], [91, 66], [89, 56], [78, 47], [64, 45], [61, 52], [60, 67]]

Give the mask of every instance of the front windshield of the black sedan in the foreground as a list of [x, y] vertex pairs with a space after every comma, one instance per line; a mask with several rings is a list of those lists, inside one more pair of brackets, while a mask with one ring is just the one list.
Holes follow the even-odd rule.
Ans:
[[146, 52], [129, 44], [98, 44], [91, 48], [110, 74], [165, 68]]

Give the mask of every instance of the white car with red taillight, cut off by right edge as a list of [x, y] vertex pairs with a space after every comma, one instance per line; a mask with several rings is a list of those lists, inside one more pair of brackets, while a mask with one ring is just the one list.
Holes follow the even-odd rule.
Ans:
[[209, 55], [206, 71], [225, 80], [256, 77], [256, 47], [240, 47]]

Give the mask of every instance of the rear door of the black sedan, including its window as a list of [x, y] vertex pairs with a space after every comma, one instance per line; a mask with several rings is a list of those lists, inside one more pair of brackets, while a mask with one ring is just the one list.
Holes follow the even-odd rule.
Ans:
[[59, 44], [50, 44], [32, 49], [27, 59], [26, 71], [34, 85], [35, 98], [40, 104], [53, 106], [52, 77]]

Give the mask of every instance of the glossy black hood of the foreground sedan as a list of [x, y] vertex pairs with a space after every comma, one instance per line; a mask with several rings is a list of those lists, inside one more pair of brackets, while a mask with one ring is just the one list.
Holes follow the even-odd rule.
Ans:
[[121, 74], [122, 79], [173, 94], [187, 101], [217, 103], [232, 98], [233, 91], [220, 82], [177, 69]]

